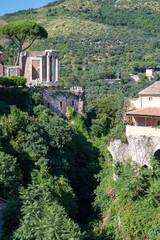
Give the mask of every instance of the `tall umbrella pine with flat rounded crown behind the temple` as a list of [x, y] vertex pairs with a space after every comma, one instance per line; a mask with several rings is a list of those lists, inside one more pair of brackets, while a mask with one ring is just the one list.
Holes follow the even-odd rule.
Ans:
[[[33, 21], [14, 21], [0, 27], [1, 37], [12, 40], [18, 48], [16, 65], [19, 64], [19, 57], [22, 51], [28, 49], [36, 39], [47, 38], [47, 31], [39, 24]], [[29, 43], [23, 48], [23, 44], [29, 40]]]

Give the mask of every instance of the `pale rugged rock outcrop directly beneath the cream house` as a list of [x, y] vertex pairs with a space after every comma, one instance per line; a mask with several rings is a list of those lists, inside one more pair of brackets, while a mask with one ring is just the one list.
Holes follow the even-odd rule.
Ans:
[[160, 137], [130, 136], [127, 143], [120, 139], [110, 142], [108, 147], [115, 161], [130, 159], [137, 164], [149, 166], [149, 160], [160, 149]]

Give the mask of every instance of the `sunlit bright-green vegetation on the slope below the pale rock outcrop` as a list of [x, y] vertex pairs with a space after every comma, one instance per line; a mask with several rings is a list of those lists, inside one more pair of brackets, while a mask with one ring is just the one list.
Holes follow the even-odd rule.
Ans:
[[158, 239], [160, 185], [156, 163], [153, 159], [154, 167], [149, 169], [108, 159], [97, 175], [100, 184], [93, 207], [99, 222], [94, 222], [93, 239]]

